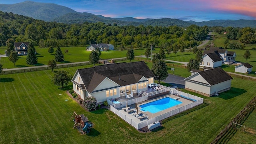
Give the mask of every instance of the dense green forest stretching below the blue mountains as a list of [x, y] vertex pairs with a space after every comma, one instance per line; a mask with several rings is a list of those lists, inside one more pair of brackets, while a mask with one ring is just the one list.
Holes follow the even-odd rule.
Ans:
[[8, 42], [31, 42], [40, 48], [109, 43], [121, 49], [148, 48], [153, 44], [154, 47], [170, 50], [175, 47], [180, 50], [196, 46], [197, 42], [204, 40], [210, 31], [219, 34], [228, 32], [226, 36], [230, 40], [240, 40], [243, 43], [256, 42], [255, 30], [252, 28], [196, 25], [190, 25], [187, 28], [151, 25], [118, 26], [103, 22], [64, 24], [0, 11], [0, 46], [6, 46]]

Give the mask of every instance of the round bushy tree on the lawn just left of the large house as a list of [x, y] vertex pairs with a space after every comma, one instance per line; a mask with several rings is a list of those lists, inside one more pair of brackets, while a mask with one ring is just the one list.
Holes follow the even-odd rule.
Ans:
[[52, 82], [56, 86], [61, 86], [61, 88], [63, 88], [63, 86], [68, 85], [68, 82], [70, 82], [71, 79], [72, 79], [72, 76], [67, 71], [61, 70], [61, 71], [57, 71], [54, 74]]

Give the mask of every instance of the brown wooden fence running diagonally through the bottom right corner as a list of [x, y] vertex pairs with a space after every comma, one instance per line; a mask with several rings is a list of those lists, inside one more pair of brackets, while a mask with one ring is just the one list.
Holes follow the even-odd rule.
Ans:
[[228, 130], [231, 128], [231, 126], [233, 125], [233, 122], [236, 123], [241, 123], [244, 116], [246, 114], [249, 114], [250, 112], [247, 112], [247, 110], [252, 110], [250, 109], [250, 106], [255, 105], [256, 103], [256, 96], [254, 98], [252, 98], [252, 100], [244, 107], [243, 110], [241, 110], [236, 116], [235, 118], [220, 132], [220, 134], [218, 134], [218, 136], [216, 136], [216, 138], [211, 142], [211, 144], [216, 144], [225, 134], [226, 132], [228, 132]]

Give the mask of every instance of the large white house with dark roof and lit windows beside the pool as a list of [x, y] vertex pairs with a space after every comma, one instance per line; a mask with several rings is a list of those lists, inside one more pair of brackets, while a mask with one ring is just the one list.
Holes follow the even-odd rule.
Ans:
[[132, 97], [154, 83], [154, 74], [144, 61], [116, 63], [76, 70], [73, 89], [84, 100], [95, 97], [98, 103], [121, 96]]

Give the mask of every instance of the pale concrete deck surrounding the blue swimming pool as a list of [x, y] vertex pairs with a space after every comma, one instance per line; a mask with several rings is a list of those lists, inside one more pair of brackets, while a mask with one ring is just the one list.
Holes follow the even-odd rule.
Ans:
[[[170, 98], [173, 98], [173, 99], [178, 97], [178, 98], [180, 98], [179, 101], [181, 101], [182, 104], [179, 104], [179, 105], [177, 105], [177, 106], [173, 106], [173, 107], [171, 107], [171, 108], [167, 108], [167, 109], [165, 109], [165, 110], [162, 110], [162, 111], [157, 112], [157, 113], [154, 113], [154, 114], [152, 114], [151, 112], [142, 112], [142, 111], [140, 111], [140, 105], [146, 104], [146, 103], [149, 103], [149, 102], [152, 102], [152, 101], [161, 99], [161, 98], [165, 98], [165, 97], [170, 97]], [[150, 100], [146, 100], [146, 101], [137, 103], [137, 106], [138, 106], [139, 113], [145, 114], [146, 116], [148, 116], [148, 119], [151, 119], [151, 118], [154, 118], [154, 117], [156, 117], [156, 116], [160, 116], [160, 115], [162, 115], [162, 114], [164, 114], [164, 113], [170, 112], [170, 111], [172, 111], [172, 110], [175, 110], [175, 109], [177, 109], [177, 108], [179, 108], [179, 107], [182, 107], [182, 106], [185, 106], [185, 105], [191, 104], [191, 103], [193, 103], [193, 101], [187, 100], [187, 99], [182, 98], [182, 97], [180, 97], [180, 96], [168, 94], [168, 95], [159, 96], [159, 97], [156, 97], [156, 98], [152, 98], [152, 99], [150, 99]], [[130, 108], [135, 108], [135, 107], [136, 107], [135, 104], [128, 105], [128, 106], [129, 106]], [[125, 108], [125, 107], [122, 107], [122, 108]], [[143, 119], [143, 120], [139, 120], [138, 118], [136, 118], [136, 117], [133, 115], [133, 114], [136, 114], [136, 112], [128, 113], [128, 112], [125, 112], [124, 110], [122, 110], [122, 108], [118, 108], [118, 110], [119, 110], [122, 114], [126, 115], [126, 117], [128, 117], [128, 118], [134, 120], [134, 121], [137, 122], [137, 123], [140, 123], [140, 122], [143, 122], [143, 121], [146, 121], [146, 120], [147, 120], [146, 118]]]

